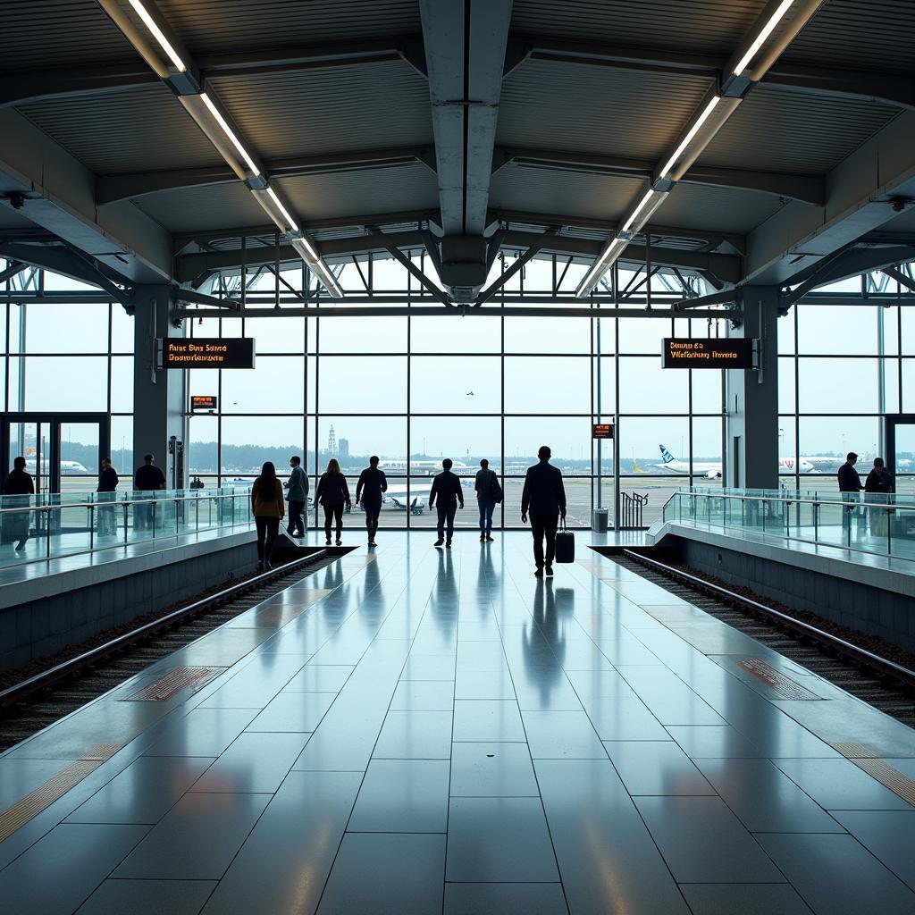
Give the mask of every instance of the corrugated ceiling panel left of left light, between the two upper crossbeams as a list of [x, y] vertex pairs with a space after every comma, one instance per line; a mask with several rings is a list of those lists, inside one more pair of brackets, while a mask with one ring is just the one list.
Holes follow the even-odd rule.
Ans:
[[222, 161], [164, 85], [35, 102], [19, 111], [97, 175]]

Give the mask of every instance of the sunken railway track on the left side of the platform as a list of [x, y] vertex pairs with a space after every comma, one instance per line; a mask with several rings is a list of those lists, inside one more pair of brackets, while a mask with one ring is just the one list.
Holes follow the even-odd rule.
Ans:
[[189, 601], [0, 692], [0, 752], [339, 558], [327, 550]]

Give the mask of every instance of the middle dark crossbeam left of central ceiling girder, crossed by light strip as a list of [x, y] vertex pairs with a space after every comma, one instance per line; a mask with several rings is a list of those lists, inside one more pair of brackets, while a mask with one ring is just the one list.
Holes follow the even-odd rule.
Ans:
[[[368, 149], [330, 156], [296, 156], [264, 162], [271, 178], [291, 178], [297, 175], [326, 175], [368, 168], [390, 168], [422, 162], [435, 168], [431, 148]], [[200, 188], [207, 185], [237, 181], [227, 165], [202, 168], [173, 168], [168, 171], [136, 172], [126, 175], [100, 175], [96, 181], [96, 199], [100, 204], [132, 199], [144, 194], [177, 188]]]

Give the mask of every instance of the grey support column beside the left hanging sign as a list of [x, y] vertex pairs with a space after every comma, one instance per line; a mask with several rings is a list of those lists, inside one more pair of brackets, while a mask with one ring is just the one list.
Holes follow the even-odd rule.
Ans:
[[187, 464], [178, 462], [178, 448], [169, 452], [169, 442], [175, 436], [176, 443], [183, 448], [187, 441], [187, 372], [156, 368], [156, 339], [184, 336], [183, 327], [171, 325], [168, 317], [171, 306], [169, 286], [135, 287], [134, 463], [139, 467], [143, 456], [151, 452], [156, 456], [156, 465], [166, 475], [168, 489], [183, 489]]

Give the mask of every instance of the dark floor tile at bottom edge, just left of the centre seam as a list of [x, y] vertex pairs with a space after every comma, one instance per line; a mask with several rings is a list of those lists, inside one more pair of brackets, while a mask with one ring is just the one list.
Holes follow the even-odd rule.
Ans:
[[318, 915], [433, 915], [444, 866], [444, 835], [347, 834]]

